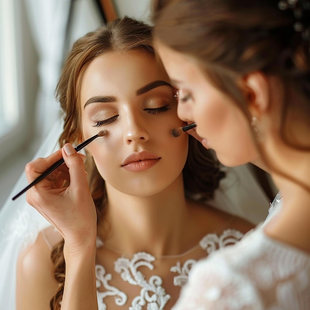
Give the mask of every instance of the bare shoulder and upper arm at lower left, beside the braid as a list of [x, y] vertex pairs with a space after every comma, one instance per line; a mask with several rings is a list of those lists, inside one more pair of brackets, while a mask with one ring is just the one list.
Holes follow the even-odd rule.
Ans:
[[39, 233], [34, 244], [19, 254], [16, 274], [17, 310], [50, 310], [49, 303], [58, 284], [53, 278], [52, 249], [47, 236], [60, 241], [61, 236], [57, 234], [50, 227], [45, 229]]

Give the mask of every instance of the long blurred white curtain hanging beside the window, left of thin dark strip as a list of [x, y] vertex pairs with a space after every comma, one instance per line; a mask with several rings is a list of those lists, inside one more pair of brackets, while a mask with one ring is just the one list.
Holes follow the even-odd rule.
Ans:
[[41, 138], [58, 118], [55, 87], [62, 62], [70, 0], [25, 0], [25, 6], [39, 56], [36, 125]]

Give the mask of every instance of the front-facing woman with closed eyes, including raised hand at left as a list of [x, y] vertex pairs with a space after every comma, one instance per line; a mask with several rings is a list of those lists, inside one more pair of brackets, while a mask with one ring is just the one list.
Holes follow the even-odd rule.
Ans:
[[253, 227], [207, 205], [224, 174], [196, 139], [171, 134], [186, 123], [151, 32], [115, 20], [64, 62], [62, 149], [27, 164], [28, 181], [65, 165], [27, 191], [52, 226], [20, 254], [18, 310], [171, 309], [197, 260]]

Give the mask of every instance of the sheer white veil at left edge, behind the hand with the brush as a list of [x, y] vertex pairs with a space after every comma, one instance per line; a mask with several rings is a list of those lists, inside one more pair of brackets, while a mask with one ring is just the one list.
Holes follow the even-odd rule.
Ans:
[[[62, 121], [52, 127], [47, 139], [34, 158], [46, 157], [59, 149], [58, 137]], [[35, 242], [38, 232], [50, 223], [26, 202], [26, 194], [15, 201], [15, 194], [28, 185], [23, 172], [13, 187], [9, 198], [0, 210], [0, 309], [15, 310], [16, 262], [19, 252], [29, 243]]]

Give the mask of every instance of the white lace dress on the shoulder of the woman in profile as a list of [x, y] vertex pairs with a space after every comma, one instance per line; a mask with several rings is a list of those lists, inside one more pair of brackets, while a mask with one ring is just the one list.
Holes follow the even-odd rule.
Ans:
[[310, 255], [263, 226], [199, 261], [173, 310], [310, 310]]

